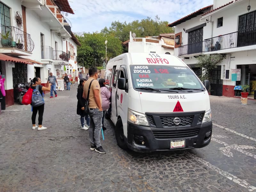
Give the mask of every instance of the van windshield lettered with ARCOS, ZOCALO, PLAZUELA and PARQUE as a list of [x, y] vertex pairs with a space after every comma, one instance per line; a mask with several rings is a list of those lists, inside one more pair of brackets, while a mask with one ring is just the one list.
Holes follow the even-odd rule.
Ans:
[[137, 90], [204, 91], [194, 72], [186, 66], [132, 65], [132, 86]]

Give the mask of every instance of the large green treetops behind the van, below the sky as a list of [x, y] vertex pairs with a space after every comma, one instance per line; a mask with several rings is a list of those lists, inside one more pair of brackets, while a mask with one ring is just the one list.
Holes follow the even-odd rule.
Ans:
[[128, 52], [122, 43], [129, 40], [130, 31], [135, 33], [136, 37], [159, 36], [162, 33], [174, 32], [174, 28], [167, 27], [167, 24], [167, 21], [160, 21], [156, 15], [155, 20], [148, 17], [128, 24], [113, 21], [109, 28], [103, 28], [100, 33], [76, 34], [82, 44], [77, 47], [77, 61], [86, 68], [95, 66], [95, 63], [96, 66], [101, 66], [102, 62], [106, 60], [106, 39], [108, 40], [107, 60], [109, 60], [121, 53]]

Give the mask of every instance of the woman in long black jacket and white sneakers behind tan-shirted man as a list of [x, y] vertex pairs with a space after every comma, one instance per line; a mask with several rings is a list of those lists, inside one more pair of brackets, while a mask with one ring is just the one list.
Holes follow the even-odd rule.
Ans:
[[[87, 114], [84, 112], [84, 105], [85, 105], [85, 99], [83, 98], [83, 92], [84, 92], [84, 84], [86, 80], [80, 79], [79, 85], [77, 88], [77, 108], [76, 108], [76, 114], [80, 115], [80, 120], [81, 120], [81, 129], [88, 130], [89, 125], [90, 125], [90, 119]], [[86, 124], [84, 124], [84, 118], [86, 120]]]

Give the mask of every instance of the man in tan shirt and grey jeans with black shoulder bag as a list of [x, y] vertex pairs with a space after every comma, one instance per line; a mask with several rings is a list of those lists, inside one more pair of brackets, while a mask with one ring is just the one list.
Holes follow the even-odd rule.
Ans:
[[90, 87], [90, 93], [89, 93], [89, 116], [90, 116], [90, 127], [89, 127], [89, 138], [91, 142], [91, 148], [90, 150], [95, 150], [98, 153], [105, 154], [106, 151], [101, 147], [100, 144], [100, 131], [102, 128], [101, 119], [103, 116], [102, 111], [102, 101], [101, 101], [101, 95], [100, 95], [100, 84], [96, 80], [98, 78], [98, 71], [96, 67], [91, 67], [89, 69], [89, 79], [84, 84], [84, 92], [83, 92], [83, 98], [87, 99], [87, 93]]

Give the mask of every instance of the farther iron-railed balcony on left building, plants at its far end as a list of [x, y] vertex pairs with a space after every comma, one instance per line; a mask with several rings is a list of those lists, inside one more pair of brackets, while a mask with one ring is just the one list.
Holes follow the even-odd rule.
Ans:
[[69, 55], [64, 51], [53, 50], [51, 46], [41, 46], [41, 58], [45, 60], [68, 61]]

